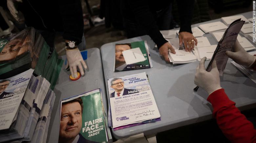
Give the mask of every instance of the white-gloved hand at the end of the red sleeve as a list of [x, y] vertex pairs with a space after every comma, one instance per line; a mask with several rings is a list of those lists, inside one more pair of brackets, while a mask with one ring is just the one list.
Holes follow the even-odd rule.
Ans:
[[205, 70], [204, 62], [206, 57], [203, 57], [197, 66], [197, 71], [194, 79], [194, 83], [202, 87], [208, 94], [221, 88], [220, 73], [217, 68], [216, 60], [212, 62], [212, 70], [210, 72]]

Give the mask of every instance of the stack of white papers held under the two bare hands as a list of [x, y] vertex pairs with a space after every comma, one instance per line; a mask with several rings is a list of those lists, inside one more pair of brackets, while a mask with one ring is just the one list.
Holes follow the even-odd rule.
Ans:
[[173, 64], [185, 64], [197, 61], [197, 57], [192, 52], [185, 50], [175, 50], [176, 54], [171, 53], [169, 50], [169, 60]]

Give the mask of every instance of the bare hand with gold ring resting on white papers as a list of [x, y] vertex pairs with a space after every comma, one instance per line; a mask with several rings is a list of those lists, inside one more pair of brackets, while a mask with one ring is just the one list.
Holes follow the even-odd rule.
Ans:
[[193, 34], [189, 32], [180, 32], [179, 40], [180, 40], [180, 45], [182, 45], [182, 40], [183, 40], [186, 52], [191, 52], [191, 50], [194, 49], [195, 44], [197, 46], [197, 39], [193, 36]]

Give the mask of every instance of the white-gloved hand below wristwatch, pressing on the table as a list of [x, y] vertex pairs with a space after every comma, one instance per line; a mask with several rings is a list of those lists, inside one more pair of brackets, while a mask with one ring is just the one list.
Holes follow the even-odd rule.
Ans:
[[[83, 57], [78, 48], [72, 50], [66, 50], [66, 56], [68, 60], [67, 67], [69, 66], [71, 75], [74, 78], [77, 78], [77, 66], [82, 76], [84, 76], [84, 69], [87, 69], [86, 63], [83, 60]], [[82, 67], [83, 65], [83, 67]], [[66, 68], [67, 68], [66, 67]]]

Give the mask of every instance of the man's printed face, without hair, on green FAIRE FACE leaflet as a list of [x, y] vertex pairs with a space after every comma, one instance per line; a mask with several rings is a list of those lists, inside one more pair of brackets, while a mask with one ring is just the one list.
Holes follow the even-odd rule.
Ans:
[[78, 102], [61, 106], [59, 137], [71, 139], [79, 134], [82, 127], [82, 110]]

